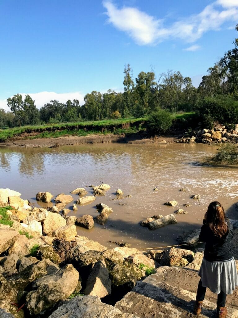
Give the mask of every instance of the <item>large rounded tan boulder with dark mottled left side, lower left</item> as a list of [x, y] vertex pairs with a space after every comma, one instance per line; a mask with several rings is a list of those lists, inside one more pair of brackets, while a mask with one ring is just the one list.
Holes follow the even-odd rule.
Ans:
[[38, 315], [56, 302], [66, 299], [75, 290], [79, 273], [71, 265], [65, 265], [59, 271], [36, 280], [26, 296], [26, 304], [30, 315]]

